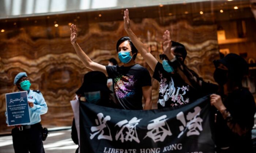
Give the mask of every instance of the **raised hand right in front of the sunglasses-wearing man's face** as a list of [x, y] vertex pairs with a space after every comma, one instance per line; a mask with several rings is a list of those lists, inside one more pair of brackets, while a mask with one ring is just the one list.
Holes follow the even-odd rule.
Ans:
[[169, 60], [172, 60], [174, 58], [172, 48], [172, 40], [170, 39], [170, 31], [166, 30], [163, 33], [163, 54], [167, 56]]

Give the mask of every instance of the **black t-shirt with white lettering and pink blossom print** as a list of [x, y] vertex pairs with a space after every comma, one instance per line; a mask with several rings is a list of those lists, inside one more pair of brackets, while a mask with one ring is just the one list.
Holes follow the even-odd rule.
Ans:
[[198, 97], [192, 94], [193, 89], [185, 83], [179, 74], [166, 72], [159, 62], [155, 67], [153, 78], [160, 82], [158, 109], [183, 105]]

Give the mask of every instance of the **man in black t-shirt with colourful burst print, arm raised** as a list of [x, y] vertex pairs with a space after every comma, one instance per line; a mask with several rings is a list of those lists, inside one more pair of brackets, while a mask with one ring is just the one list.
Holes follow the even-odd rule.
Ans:
[[[89, 56], [80, 48], [77, 39], [77, 30], [74, 24], [71, 25], [71, 44], [76, 54], [84, 65], [93, 70], [101, 71], [109, 78], [113, 79], [113, 89], [117, 105], [121, 109], [148, 110], [151, 109], [151, 76], [148, 70], [135, 63], [138, 50], [127, 36], [120, 38], [116, 44], [118, 58], [123, 63], [122, 66], [103, 66], [93, 62]], [[142, 96], [144, 98], [144, 108], [142, 107]]]

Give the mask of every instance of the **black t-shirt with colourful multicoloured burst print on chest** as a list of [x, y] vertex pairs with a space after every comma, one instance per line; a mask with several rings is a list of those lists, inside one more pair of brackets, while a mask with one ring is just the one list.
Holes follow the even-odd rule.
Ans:
[[116, 102], [123, 109], [142, 110], [142, 87], [151, 86], [148, 70], [139, 64], [133, 66], [106, 66], [109, 78], [113, 79]]

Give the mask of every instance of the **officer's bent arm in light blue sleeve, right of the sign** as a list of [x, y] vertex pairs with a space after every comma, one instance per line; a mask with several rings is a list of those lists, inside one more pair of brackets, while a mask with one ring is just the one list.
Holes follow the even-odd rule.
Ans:
[[31, 107], [31, 110], [41, 115], [47, 113], [48, 107], [42, 93], [38, 93], [37, 95], [35, 95], [35, 103], [33, 103], [33, 107]]

